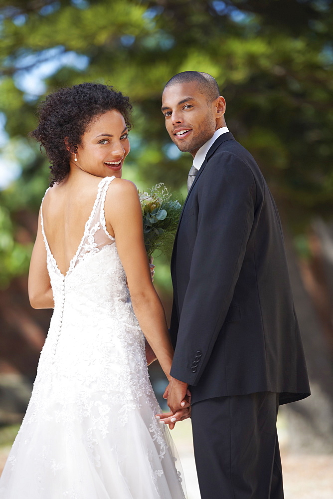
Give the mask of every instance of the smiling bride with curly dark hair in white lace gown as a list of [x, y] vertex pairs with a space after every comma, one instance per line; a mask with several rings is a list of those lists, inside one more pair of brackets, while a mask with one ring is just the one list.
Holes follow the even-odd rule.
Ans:
[[[138, 191], [121, 178], [130, 110], [121, 92], [83, 83], [49, 95], [32, 133], [53, 177], [28, 292], [54, 312], [1, 499], [185, 498], [147, 370], [145, 337], [168, 379], [173, 351]], [[189, 417], [183, 402], [170, 428]]]

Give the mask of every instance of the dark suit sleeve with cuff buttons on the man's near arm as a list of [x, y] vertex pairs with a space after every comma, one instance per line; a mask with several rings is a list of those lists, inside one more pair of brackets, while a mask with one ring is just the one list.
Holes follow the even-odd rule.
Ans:
[[195, 386], [223, 326], [253, 226], [256, 185], [236, 155], [214, 155], [198, 186], [198, 222], [170, 375]]

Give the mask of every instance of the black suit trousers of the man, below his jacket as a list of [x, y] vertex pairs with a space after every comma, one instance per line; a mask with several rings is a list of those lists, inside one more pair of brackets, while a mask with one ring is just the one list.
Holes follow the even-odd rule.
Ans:
[[283, 499], [277, 393], [216, 397], [192, 405], [201, 499]]

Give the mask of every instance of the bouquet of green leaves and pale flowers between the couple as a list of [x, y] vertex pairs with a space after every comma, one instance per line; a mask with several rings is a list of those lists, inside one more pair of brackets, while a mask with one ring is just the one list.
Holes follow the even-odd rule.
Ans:
[[148, 257], [156, 250], [170, 257], [181, 204], [168, 192], [164, 184], [157, 184], [149, 189], [149, 192], [139, 191], [139, 197]]

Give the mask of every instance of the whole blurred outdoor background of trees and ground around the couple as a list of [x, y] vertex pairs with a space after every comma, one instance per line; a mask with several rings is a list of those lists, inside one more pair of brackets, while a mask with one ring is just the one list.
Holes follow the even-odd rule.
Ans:
[[[0, 469], [19, 428], [51, 310], [27, 296], [48, 161], [28, 138], [38, 102], [63, 86], [109, 83], [134, 105], [125, 178], [186, 196], [191, 157], [161, 113], [166, 81], [212, 74], [226, 122], [278, 204], [313, 395], [283, 406], [286, 499], [333, 497], [333, 10], [331, 0], [0, 1]], [[171, 283], [155, 284], [169, 314]], [[163, 404], [166, 380], [151, 379]], [[165, 408], [165, 405], [163, 406]], [[182, 426], [181, 426], [182, 425]], [[189, 499], [199, 498], [190, 421], [173, 431]]]

